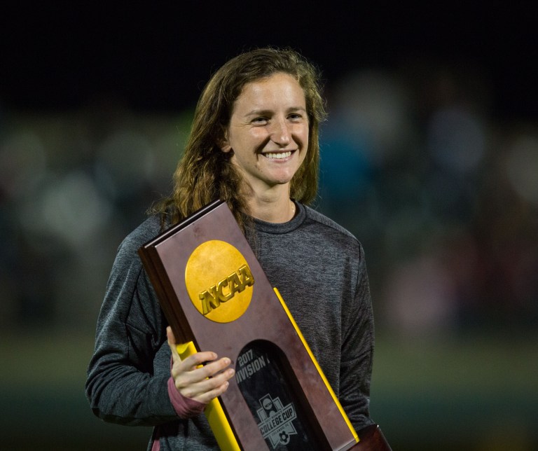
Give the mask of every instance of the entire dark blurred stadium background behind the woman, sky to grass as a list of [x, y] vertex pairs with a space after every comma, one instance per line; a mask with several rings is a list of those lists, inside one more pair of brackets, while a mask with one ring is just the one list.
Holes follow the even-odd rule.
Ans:
[[393, 449], [538, 449], [532, 14], [193, 4], [2, 7], [0, 448], [145, 449], [84, 396], [106, 279], [205, 81], [270, 44], [326, 78], [317, 208], [366, 250]]

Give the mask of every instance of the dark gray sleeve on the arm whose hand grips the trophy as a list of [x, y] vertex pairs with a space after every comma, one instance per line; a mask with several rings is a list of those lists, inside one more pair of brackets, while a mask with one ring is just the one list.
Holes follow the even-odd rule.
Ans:
[[149, 239], [146, 234], [139, 230], [118, 249], [85, 389], [93, 412], [105, 421], [150, 426], [177, 419], [177, 414], [167, 392], [165, 319], [137, 255]]

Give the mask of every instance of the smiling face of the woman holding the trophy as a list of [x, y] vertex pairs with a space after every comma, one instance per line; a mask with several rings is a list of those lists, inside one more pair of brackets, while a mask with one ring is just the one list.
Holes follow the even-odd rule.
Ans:
[[308, 115], [303, 89], [284, 73], [247, 83], [220, 143], [255, 193], [286, 186], [305, 160]]

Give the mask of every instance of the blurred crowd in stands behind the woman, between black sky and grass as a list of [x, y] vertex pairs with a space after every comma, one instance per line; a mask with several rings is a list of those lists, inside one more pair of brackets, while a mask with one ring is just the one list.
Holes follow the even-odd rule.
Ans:
[[[499, 118], [472, 67], [359, 71], [326, 97], [316, 208], [364, 245], [382, 329], [536, 326], [537, 124]], [[93, 330], [116, 248], [169, 192], [191, 114], [0, 104], [2, 328]]]

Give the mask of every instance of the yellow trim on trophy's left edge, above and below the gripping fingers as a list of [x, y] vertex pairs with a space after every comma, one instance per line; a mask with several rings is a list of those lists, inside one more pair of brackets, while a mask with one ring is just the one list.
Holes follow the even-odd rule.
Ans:
[[[177, 345], [177, 353], [181, 357], [181, 360], [186, 359], [188, 356], [198, 352], [192, 341]], [[241, 448], [237, 443], [235, 434], [230, 427], [228, 418], [222, 408], [219, 398], [214, 398], [207, 404], [204, 410], [205, 417], [211, 426], [211, 430], [216, 438], [216, 443], [222, 451], [240, 451]]]

